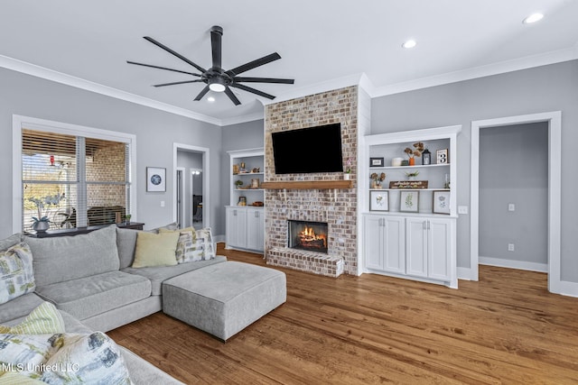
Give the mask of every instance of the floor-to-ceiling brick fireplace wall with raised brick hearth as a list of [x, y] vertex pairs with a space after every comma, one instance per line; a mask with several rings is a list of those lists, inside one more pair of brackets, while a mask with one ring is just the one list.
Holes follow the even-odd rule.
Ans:
[[[343, 160], [351, 159], [352, 188], [266, 189], [267, 264], [338, 277], [357, 273], [357, 147], [358, 87], [345, 87], [266, 105], [266, 182], [326, 181], [343, 178], [341, 172], [275, 174], [271, 133], [324, 124], [341, 124]], [[322, 150], [321, 150], [322, 151]], [[295, 156], [306, 156], [295, 149]], [[288, 221], [326, 225], [325, 250], [293, 248]], [[318, 242], [319, 243], [319, 242]]]

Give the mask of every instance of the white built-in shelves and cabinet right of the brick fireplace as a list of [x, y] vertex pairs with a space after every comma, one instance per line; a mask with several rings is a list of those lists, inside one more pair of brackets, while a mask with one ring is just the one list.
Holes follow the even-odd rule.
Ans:
[[[455, 154], [460, 132], [455, 125], [363, 138], [359, 204], [365, 271], [457, 288]], [[415, 157], [414, 165], [400, 165], [408, 160], [406, 149], [418, 145], [431, 152], [431, 159]], [[374, 173], [385, 174], [380, 186], [369, 178]]]

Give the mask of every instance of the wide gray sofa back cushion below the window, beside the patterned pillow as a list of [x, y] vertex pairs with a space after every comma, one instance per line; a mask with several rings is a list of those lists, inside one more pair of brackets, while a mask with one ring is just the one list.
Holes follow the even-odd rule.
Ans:
[[36, 286], [118, 270], [117, 225], [89, 234], [24, 237], [33, 252]]

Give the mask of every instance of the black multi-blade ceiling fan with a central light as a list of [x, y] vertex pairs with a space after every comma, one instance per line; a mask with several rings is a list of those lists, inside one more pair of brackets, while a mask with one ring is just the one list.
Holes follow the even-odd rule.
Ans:
[[246, 64], [238, 66], [234, 69], [229, 69], [228, 71], [221, 68], [221, 37], [223, 36], [223, 29], [218, 25], [213, 26], [210, 29], [210, 45], [212, 49], [212, 67], [210, 69], [203, 69], [199, 65], [193, 63], [191, 60], [188, 60], [180, 53], [171, 50], [169, 47], [163, 45], [163, 43], [159, 41], [155, 41], [152, 37], [144, 36], [146, 41], [152, 42], [159, 48], [166, 50], [167, 52], [171, 53], [172, 55], [176, 56], [177, 58], [181, 59], [182, 61], [190, 64], [192, 67], [200, 71], [200, 74], [182, 71], [180, 69], [168, 69], [166, 67], [159, 67], [154, 66], [152, 64], [144, 64], [144, 63], [137, 63], [135, 61], [126, 60], [128, 64], [135, 64], [137, 66], [144, 66], [150, 67], [152, 69], [164, 69], [167, 71], [173, 72], [180, 72], [182, 74], [191, 75], [193, 77], [197, 77], [194, 80], [183, 80], [183, 81], [175, 81], [172, 83], [163, 83], [163, 84], [156, 84], [154, 87], [166, 87], [166, 86], [174, 86], [177, 84], [186, 84], [186, 83], [205, 83], [207, 86], [200, 91], [199, 95], [195, 97], [196, 101], [202, 99], [210, 90], [215, 92], [225, 92], [229, 99], [235, 104], [240, 105], [237, 96], [233, 94], [230, 87], [235, 87], [238, 89], [242, 89], [244, 91], [256, 94], [258, 96], [263, 96], [268, 99], [275, 99], [275, 96], [269, 95], [263, 91], [259, 91], [258, 89], [247, 87], [240, 83], [281, 83], [281, 84], [294, 84], [294, 79], [292, 78], [244, 78], [239, 77], [238, 74], [243, 72], [247, 72], [249, 69], [255, 69], [256, 67], [263, 66], [271, 61], [281, 59], [281, 56], [275, 52], [270, 55], [264, 56], [263, 58], [249, 61]]

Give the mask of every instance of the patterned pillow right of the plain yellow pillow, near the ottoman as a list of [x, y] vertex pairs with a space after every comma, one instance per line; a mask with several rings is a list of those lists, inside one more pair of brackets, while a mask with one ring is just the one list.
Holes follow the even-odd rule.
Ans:
[[[166, 229], [160, 229], [159, 231], [161, 234], [171, 233], [170, 230]], [[200, 230], [187, 227], [176, 232], [179, 232], [179, 242], [175, 252], [177, 262], [186, 263], [215, 258], [210, 227]]]

